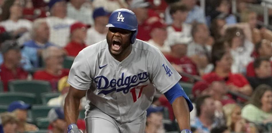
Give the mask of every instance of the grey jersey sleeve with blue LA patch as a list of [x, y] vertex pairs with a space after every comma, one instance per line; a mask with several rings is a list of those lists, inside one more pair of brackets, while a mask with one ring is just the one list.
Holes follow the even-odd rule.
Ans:
[[160, 93], [167, 92], [180, 81], [180, 74], [178, 74], [160, 51], [155, 53], [150, 60], [152, 64], [150, 64], [149, 77]]

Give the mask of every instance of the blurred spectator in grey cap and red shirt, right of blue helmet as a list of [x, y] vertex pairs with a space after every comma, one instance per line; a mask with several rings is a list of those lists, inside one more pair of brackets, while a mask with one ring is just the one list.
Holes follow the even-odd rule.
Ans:
[[149, 2], [144, 0], [133, 0], [130, 3], [130, 9], [135, 13], [138, 21], [137, 39], [148, 41], [150, 37], [151, 24], [159, 21], [157, 17], [149, 17]]

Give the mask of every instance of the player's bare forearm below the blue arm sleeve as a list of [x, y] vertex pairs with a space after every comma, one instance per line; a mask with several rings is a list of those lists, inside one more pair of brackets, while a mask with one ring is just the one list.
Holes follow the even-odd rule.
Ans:
[[178, 121], [178, 125], [180, 130], [188, 129], [191, 130], [190, 127], [190, 113], [186, 100], [183, 97], [178, 97], [172, 104], [174, 115]]

